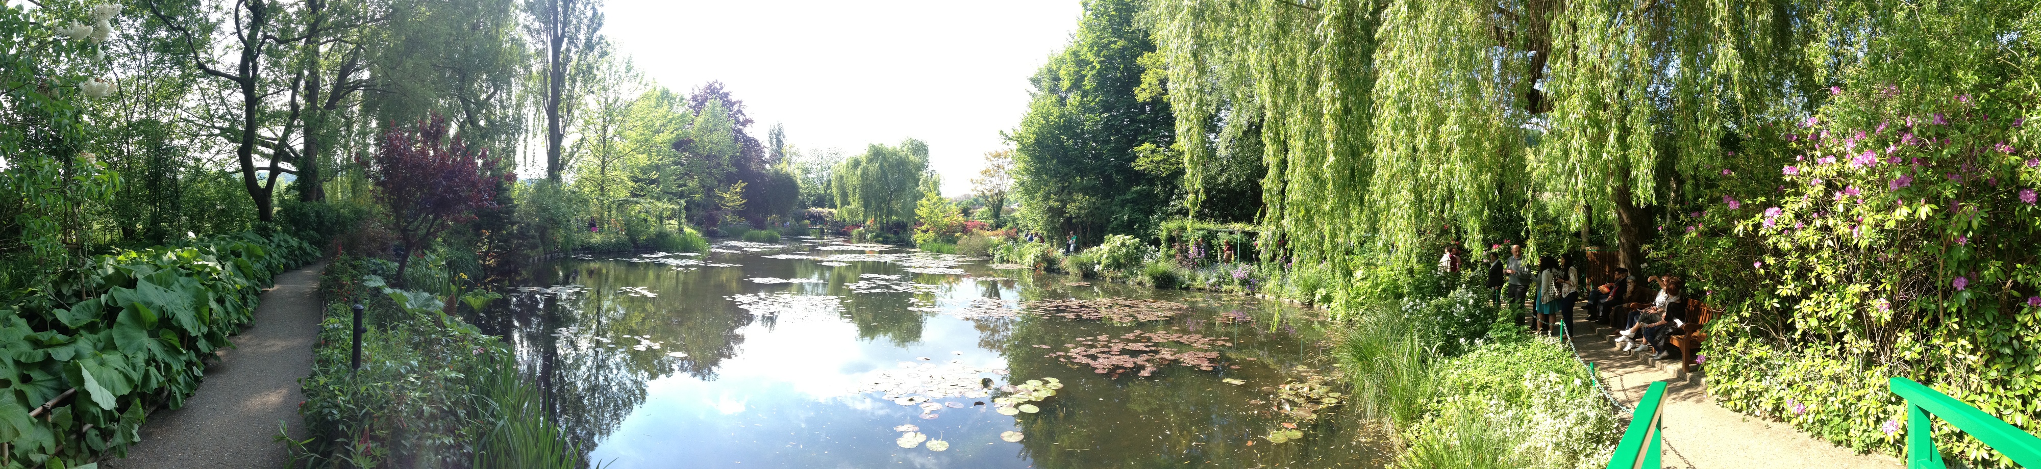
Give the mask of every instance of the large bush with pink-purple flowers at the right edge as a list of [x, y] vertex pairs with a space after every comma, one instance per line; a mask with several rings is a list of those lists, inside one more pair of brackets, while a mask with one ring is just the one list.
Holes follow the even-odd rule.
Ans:
[[[1751, 159], [1770, 169], [1716, 181], [1700, 230], [1657, 253], [1725, 292], [1706, 298], [1725, 310], [1708, 392], [1859, 451], [1900, 451], [1896, 375], [2041, 430], [2041, 145], [2014, 106], [1843, 92]], [[1937, 440], [1996, 459], [1947, 426]]]

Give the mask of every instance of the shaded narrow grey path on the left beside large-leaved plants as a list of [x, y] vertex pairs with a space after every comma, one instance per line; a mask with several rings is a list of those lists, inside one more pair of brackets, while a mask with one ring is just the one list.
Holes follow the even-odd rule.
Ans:
[[100, 467], [135, 469], [276, 469], [286, 465], [276, 442], [278, 420], [304, 432], [298, 379], [312, 373], [312, 343], [318, 341], [318, 271], [314, 263], [276, 277], [261, 294], [255, 322], [235, 334], [237, 349], [225, 349], [220, 363], [206, 367], [198, 394], [184, 408], [149, 416], [141, 442], [127, 459]]

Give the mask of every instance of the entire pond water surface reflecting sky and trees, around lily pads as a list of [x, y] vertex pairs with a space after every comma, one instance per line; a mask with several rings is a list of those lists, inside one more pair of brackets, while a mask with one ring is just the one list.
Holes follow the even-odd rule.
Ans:
[[[841, 251], [839, 251], [841, 253]], [[674, 271], [671, 265], [627, 261], [567, 261], [543, 267], [588, 294], [522, 308], [514, 326], [529, 361], [555, 381], [563, 422], [588, 438], [592, 461], [616, 469], [637, 467], [1376, 467], [1374, 451], [1355, 442], [1355, 418], [1341, 414], [1310, 426], [1314, 442], [1270, 445], [1259, 440], [1276, 426], [1261, 385], [1278, 385], [1284, 369], [1312, 357], [1318, 345], [1263, 322], [1218, 324], [1212, 318], [1245, 310], [1265, 318], [1284, 308], [1239, 296], [1151, 292], [1100, 283], [1065, 288], [1067, 277], [1025, 271], [990, 271], [959, 265], [980, 277], [914, 275], [900, 281], [941, 283], [935, 294], [853, 294], [845, 283], [861, 273], [904, 273], [900, 265], [853, 261], [845, 267], [814, 259], [765, 259], [767, 253], [718, 253], [704, 261], [737, 267]], [[757, 283], [749, 277], [816, 277], [829, 283]], [[653, 298], [606, 294], [647, 288]], [[841, 298], [841, 314], [786, 312], [753, 318], [729, 296], [794, 294]], [[978, 298], [998, 298], [1008, 308], [1047, 298], [1163, 298], [1192, 304], [1196, 314], [1169, 322], [1112, 326], [1096, 320], [978, 318], [912, 312], [910, 306], [963, 310]], [[910, 302], [910, 298], [920, 298]], [[1227, 304], [1204, 302], [1204, 298]], [[561, 314], [547, 320], [547, 314]], [[1239, 314], [1239, 312], [1235, 312]], [[1247, 314], [1239, 314], [1247, 318]], [[559, 324], [547, 324], [559, 322]], [[661, 351], [553, 351], [547, 332], [574, 326], [594, 336], [647, 334]], [[1098, 334], [1182, 328], [1225, 336], [1223, 365], [1243, 369], [1196, 371], [1169, 365], [1155, 377], [1108, 379], [1043, 357], [1051, 349]], [[1288, 328], [1284, 328], [1288, 330]], [[1310, 330], [1310, 328], [1306, 328]], [[635, 343], [635, 341], [627, 341]], [[669, 359], [665, 351], [686, 351]], [[927, 357], [931, 361], [918, 361]], [[902, 361], [947, 367], [1012, 369], [1014, 381], [1059, 377], [1065, 387], [1041, 404], [1041, 414], [1002, 416], [992, 398], [937, 398], [965, 408], [941, 408], [923, 420], [918, 406], [900, 406], [867, 389], [878, 373], [906, 371]], [[994, 385], [1004, 383], [998, 375]], [[1241, 377], [1251, 385], [1227, 385]], [[894, 426], [914, 424], [949, 451], [900, 449]], [[1004, 442], [1000, 432], [1023, 430], [1027, 440]], [[1249, 442], [1259, 440], [1259, 447]]]

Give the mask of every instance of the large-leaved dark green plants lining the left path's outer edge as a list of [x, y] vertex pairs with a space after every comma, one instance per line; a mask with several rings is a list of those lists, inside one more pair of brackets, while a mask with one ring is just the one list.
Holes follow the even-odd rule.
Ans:
[[[251, 320], [269, 277], [318, 257], [286, 234], [206, 237], [100, 255], [0, 304], [0, 467], [125, 455], [147, 410], [198, 392], [202, 357]], [[29, 412], [65, 392], [45, 414]]]

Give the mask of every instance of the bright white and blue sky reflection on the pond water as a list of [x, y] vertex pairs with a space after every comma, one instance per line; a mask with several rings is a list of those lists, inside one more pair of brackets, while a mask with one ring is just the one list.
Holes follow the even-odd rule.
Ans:
[[[739, 355], [723, 361], [716, 381], [667, 375], [649, 381], [645, 404], [631, 412], [594, 453], [612, 467], [1029, 467], [1018, 442], [998, 438], [1016, 430], [1012, 416], [990, 406], [943, 408], [923, 420], [920, 408], [853, 394], [876, 371], [900, 361], [961, 359], [965, 365], [1004, 367], [996, 353], [978, 349], [967, 320], [929, 318], [920, 343], [908, 349], [886, 341], [857, 341], [849, 322], [782, 320], [771, 330], [751, 324]], [[963, 355], [955, 355], [961, 351]], [[937, 402], [988, 402], [949, 398]], [[892, 426], [916, 424], [931, 438], [949, 440], [943, 453], [900, 449]]]

